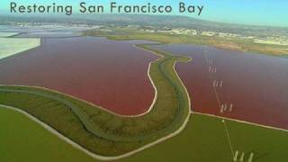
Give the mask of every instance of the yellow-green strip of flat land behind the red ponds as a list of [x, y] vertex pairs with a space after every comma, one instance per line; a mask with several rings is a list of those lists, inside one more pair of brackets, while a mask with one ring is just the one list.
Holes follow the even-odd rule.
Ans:
[[176, 35], [162, 32], [139, 31], [128, 27], [111, 27], [107, 30], [84, 31], [87, 36], [107, 37], [111, 40], [153, 40], [162, 43], [211, 45], [220, 49], [250, 51], [275, 56], [287, 56], [288, 46], [255, 43], [253, 40], [220, 38], [218, 36]]

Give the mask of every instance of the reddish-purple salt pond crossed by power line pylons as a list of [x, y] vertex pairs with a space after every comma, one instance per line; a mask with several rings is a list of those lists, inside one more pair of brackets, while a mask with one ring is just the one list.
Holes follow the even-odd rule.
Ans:
[[193, 111], [288, 129], [288, 58], [181, 44], [157, 48], [193, 58], [176, 65]]

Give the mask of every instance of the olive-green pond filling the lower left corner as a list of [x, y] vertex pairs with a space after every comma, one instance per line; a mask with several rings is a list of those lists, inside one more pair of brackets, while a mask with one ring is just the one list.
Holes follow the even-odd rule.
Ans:
[[0, 161], [93, 161], [20, 112], [0, 106]]

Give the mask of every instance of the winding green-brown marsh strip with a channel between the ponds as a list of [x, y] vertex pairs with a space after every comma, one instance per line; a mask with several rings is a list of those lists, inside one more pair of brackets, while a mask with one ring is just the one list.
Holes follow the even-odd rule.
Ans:
[[[148, 49], [145, 45], [139, 47]], [[0, 104], [29, 112], [98, 155], [127, 153], [179, 130], [190, 115], [188, 94], [174, 70], [176, 61], [190, 58], [153, 51], [161, 56], [149, 68], [157, 100], [145, 115], [115, 115], [66, 94], [37, 87], [0, 86]]]

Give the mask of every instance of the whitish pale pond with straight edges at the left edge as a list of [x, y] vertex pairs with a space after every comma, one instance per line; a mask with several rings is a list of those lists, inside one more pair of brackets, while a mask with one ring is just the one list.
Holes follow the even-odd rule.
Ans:
[[1, 38], [0, 59], [18, 54], [24, 50], [40, 46], [40, 39], [35, 38]]

